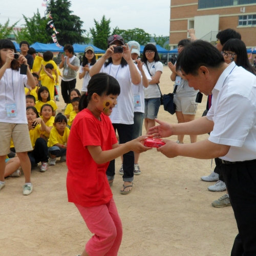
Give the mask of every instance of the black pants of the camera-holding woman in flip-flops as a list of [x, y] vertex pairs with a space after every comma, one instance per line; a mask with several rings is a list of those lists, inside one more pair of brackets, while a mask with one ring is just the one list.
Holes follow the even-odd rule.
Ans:
[[[118, 132], [120, 144], [126, 143], [132, 140], [133, 136], [133, 124], [113, 123], [114, 130]], [[130, 151], [123, 154], [123, 181], [133, 181], [134, 171], [134, 152]], [[106, 175], [110, 179], [114, 179], [115, 176], [115, 159], [110, 161], [108, 169], [106, 169]]]

